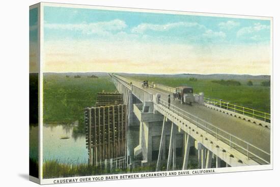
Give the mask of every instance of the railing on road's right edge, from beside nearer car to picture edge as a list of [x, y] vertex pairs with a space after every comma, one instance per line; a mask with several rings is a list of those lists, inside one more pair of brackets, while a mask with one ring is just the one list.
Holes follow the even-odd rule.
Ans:
[[269, 113], [261, 112], [261, 111], [254, 110], [254, 109], [249, 109], [244, 106], [240, 106], [237, 104], [232, 104], [229, 102], [225, 102], [225, 101], [218, 100], [218, 99], [212, 99], [212, 98], [208, 98], [208, 97], [204, 97], [204, 102], [207, 104], [211, 104], [213, 106], [217, 106], [221, 109], [226, 109], [226, 110], [229, 110], [229, 111], [232, 111], [235, 113], [243, 114], [245, 116], [257, 118], [257, 119], [270, 123], [270, 114]]

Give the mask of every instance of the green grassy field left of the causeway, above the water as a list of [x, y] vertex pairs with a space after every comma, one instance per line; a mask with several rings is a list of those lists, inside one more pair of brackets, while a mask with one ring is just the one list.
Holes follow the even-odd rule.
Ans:
[[110, 77], [66, 77], [65, 74], [44, 74], [43, 115], [44, 123], [70, 124], [83, 121], [83, 109], [95, 106], [96, 94], [115, 92]]

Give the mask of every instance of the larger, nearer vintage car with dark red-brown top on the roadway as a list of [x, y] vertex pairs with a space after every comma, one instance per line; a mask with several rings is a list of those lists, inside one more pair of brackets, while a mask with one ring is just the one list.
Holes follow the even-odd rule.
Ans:
[[187, 86], [176, 87], [175, 93], [173, 93], [173, 98], [174, 100], [179, 99], [181, 104], [191, 104], [194, 102], [193, 89]]

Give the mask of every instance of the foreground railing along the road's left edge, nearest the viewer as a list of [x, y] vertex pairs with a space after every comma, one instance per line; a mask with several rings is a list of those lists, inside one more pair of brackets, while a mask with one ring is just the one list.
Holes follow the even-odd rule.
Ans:
[[206, 131], [206, 133], [211, 134], [217, 140], [222, 141], [230, 146], [230, 148], [234, 148], [239, 152], [245, 154], [248, 159], [254, 159], [254, 161], [260, 164], [270, 164], [270, 153], [246, 142], [225, 130], [222, 130], [211, 123], [200, 119], [197, 116], [194, 116], [177, 106], [170, 104], [162, 99], [158, 101], [158, 103], [166, 109], [172, 111], [173, 113], [181, 116], [182, 118], [190, 121], [197, 127]]

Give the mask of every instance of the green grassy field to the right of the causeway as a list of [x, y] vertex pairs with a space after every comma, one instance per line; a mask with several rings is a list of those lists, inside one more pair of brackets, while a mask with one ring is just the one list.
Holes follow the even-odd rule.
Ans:
[[219, 79], [202, 79], [190, 81], [189, 77], [168, 77], [168, 76], [145, 76], [145, 75], [130, 75], [134, 79], [143, 81], [147, 79], [149, 83], [154, 82], [170, 87], [191, 86], [194, 93], [204, 92], [206, 97], [222, 99], [223, 101], [239, 104], [270, 113], [270, 87], [261, 86], [261, 82], [267, 79], [252, 80], [253, 86], [248, 86], [248, 79], [238, 80], [240, 86], [226, 86], [212, 81]]

